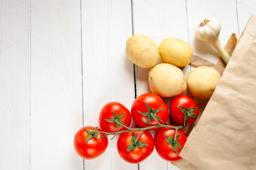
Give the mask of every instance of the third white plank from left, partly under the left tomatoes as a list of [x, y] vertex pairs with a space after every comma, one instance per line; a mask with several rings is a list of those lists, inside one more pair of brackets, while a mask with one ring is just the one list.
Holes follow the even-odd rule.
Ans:
[[[125, 54], [132, 35], [131, 2], [127, 0], [81, 1], [83, 43], [84, 126], [99, 126], [102, 106], [116, 101], [129, 110], [135, 99], [133, 64]], [[108, 139], [111, 137], [109, 136]], [[85, 170], [135, 170], [117, 153], [117, 137], [109, 140], [101, 157], [85, 160]]]

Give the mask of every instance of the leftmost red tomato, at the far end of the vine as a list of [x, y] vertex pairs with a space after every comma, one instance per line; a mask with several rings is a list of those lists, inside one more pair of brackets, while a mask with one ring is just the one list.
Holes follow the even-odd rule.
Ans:
[[[84, 128], [90, 131], [102, 131], [92, 126], [85, 126]], [[79, 129], [74, 136], [74, 149], [83, 159], [95, 159], [106, 151], [108, 147], [108, 137], [100, 137], [100, 135], [104, 134], [98, 133], [94, 134], [96, 137], [92, 137], [86, 142], [88, 132], [84, 128]]]

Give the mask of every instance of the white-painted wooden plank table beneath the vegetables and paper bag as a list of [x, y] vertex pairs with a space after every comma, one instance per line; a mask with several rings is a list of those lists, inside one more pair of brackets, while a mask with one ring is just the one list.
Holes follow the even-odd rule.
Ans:
[[73, 137], [98, 126], [107, 102], [130, 108], [149, 92], [149, 70], [125, 55], [132, 34], [157, 44], [180, 38], [216, 63], [195, 27], [219, 20], [225, 45], [255, 9], [255, 0], [0, 0], [0, 170], [178, 170], [155, 151], [139, 165], [126, 163], [117, 138], [101, 157], [83, 160]]

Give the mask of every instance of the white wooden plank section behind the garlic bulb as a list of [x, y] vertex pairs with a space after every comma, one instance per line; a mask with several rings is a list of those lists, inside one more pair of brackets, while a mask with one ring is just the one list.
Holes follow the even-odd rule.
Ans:
[[[216, 19], [220, 22], [222, 29], [219, 39], [222, 46], [225, 46], [232, 33], [238, 33], [236, 14], [236, 0], [216, 1], [187, 1], [189, 42], [193, 47], [194, 54], [204, 59], [217, 63], [219, 54], [206, 42], [195, 38], [195, 28], [198, 24], [207, 19]], [[196, 12], [195, 12], [196, 11]]]

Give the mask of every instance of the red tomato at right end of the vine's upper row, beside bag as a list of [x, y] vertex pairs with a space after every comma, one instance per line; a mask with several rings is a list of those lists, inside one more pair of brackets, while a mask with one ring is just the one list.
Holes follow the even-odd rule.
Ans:
[[171, 118], [177, 125], [191, 125], [198, 117], [198, 106], [186, 95], [178, 95], [170, 104]]

